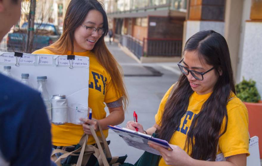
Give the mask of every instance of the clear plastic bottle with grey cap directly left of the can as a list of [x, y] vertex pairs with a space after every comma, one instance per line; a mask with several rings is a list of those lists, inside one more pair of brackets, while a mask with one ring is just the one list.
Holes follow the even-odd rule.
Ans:
[[49, 121], [52, 120], [52, 104], [51, 104], [51, 97], [46, 88], [47, 76], [38, 76], [37, 77], [37, 90], [41, 93], [41, 97], [46, 106], [46, 112], [49, 118]]

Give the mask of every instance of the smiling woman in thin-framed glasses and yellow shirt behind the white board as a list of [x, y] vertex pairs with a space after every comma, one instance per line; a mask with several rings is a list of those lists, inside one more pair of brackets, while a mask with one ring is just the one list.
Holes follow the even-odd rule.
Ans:
[[[48, 47], [33, 52], [89, 57], [88, 106], [92, 109], [92, 118], [101, 124], [105, 137], [108, 136], [107, 125], [118, 125], [124, 121], [124, 109], [127, 105], [127, 92], [120, 66], [104, 41], [107, 31], [107, 16], [97, 0], [71, 0], [60, 39]], [[110, 113], [108, 116], [105, 104]], [[99, 130], [96, 121], [90, 119], [82, 121], [84, 122], [82, 125], [52, 124], [53, 147], [66, 149], [66, 146], [77, 145], [84, 132], [91, 135], [88, 124], [93, 125], [96, 131]], [[99, 132], [97, 135], [101, 136]], [[94, 143], [94, 138], [89, 136], [88, 144]]]

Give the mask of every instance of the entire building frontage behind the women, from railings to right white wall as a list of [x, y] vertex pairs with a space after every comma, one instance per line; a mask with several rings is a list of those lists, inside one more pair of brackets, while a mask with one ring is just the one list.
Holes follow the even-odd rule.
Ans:
[[[186, 40], [214, 30], [227, 40], [236, 82], [262, 95], [262, 0], [104, 0], [116, 41], [143, 58], [178, 57]], [[170, 58], [167, 61], [172, 61]]]

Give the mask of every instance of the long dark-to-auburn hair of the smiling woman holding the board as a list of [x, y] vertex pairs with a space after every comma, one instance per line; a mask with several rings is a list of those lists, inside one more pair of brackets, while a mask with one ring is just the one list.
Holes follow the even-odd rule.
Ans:
[[117, 63], [114, 56], [108, 50], [104, 36], [108, 32], [108, 20], [105, 9], [97, 0], [71, 0], [66, 10], [63, 25], [62, 36], [52, 45], [45, 47], [57, 55], [65, 55], [68, 50], [71, 54], [74, 52], [74, 32], [85, 20], [90, 10], [97, 10], [103, 15], [104, 33], [96, 42], [92, 52], [94, 52], [98, 62], [110, 74], [113, 85], [116, 89], [118, 97], [122, 97], [124, 109], [127, 107], [128, 95], [122, 79], [122, 68]]

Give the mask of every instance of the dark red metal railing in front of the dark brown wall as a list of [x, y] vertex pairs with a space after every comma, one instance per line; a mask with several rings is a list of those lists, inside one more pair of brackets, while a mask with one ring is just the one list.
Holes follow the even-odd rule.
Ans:
[[182, 39], [144, 39], [146, 56], [181, 56]]

